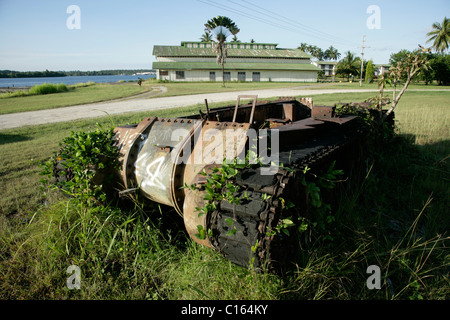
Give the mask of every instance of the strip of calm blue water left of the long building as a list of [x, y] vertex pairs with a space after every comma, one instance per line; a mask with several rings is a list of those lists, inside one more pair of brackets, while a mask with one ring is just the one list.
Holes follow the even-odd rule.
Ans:
[[0, 78], [0, 87], [32, 87], [42, 83], [64, 83], [76, 84], [84, 82], [117, 82], [120, 80], [137, 81], [138, 78], [143, 80], [154, 78], [154, 75], [136, 75], [136, 76], [72, 76], [72, 77], [42, 77], [42, 78]]

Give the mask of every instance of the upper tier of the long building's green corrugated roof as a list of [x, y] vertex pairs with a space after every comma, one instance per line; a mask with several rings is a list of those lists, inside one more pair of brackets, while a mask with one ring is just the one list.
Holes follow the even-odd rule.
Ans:
[[[182, 46], [154, 46], [157, 57], [216, 57], [212, 48], [186, 48]], [[228, 49], [228, 58], [294, 58], [309, 59], [311, 56], [299, 49]]]

